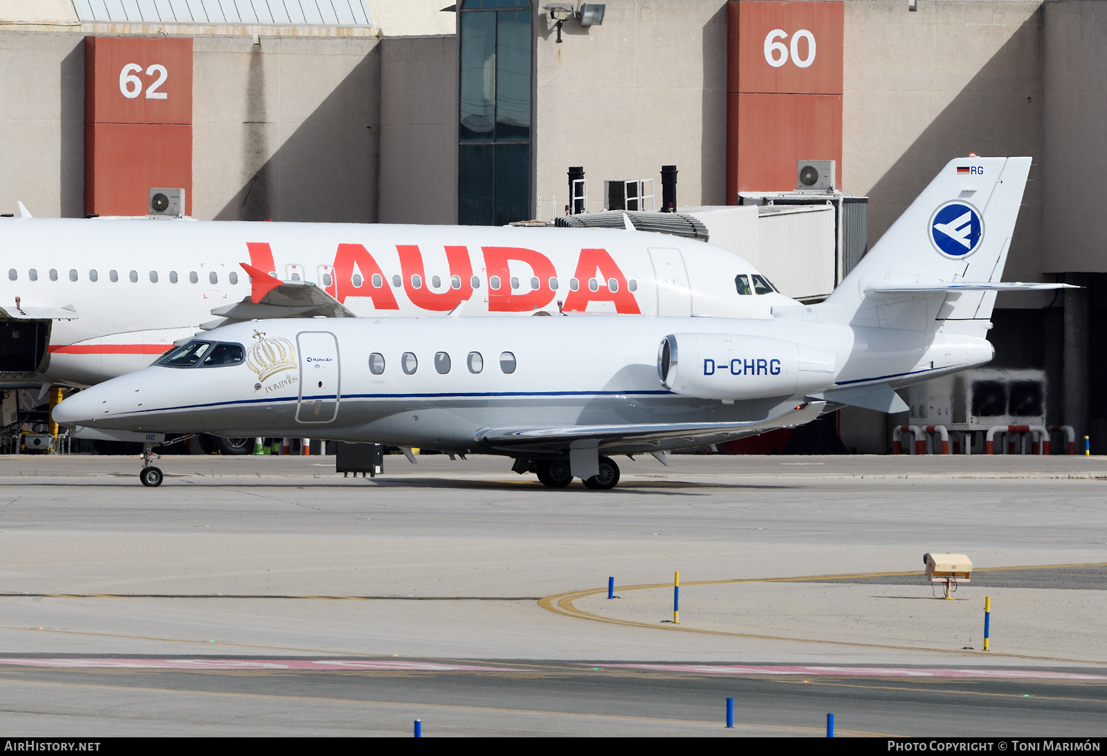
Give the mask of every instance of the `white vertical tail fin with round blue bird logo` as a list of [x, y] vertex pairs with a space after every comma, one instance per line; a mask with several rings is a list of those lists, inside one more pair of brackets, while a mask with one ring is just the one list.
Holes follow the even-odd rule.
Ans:
[[[910, 330], [986, 321], [994, 291], [941, 286], [1000, 281], [1030, 168], [1028, 157], [951, 160], [827, 298], [827, 315]], [[872, 295], [891, 284], [933, 288]]]

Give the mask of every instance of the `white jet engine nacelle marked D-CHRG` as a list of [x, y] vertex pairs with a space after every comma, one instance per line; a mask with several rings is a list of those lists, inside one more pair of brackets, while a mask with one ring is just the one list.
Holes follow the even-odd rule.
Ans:
[[658, 350], [658, 377], [699, 399], [758, 399], [834, 384], [834, 355], [764, 336], [673, 334]]

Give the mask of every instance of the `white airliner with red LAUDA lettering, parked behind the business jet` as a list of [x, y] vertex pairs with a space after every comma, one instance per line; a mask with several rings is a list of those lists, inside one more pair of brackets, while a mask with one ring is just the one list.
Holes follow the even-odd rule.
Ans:
[[[91, 386], [249, 318], [794, 304], [726, 250], [614, 229], [2, 218], [0, 255], [0, 388]], [[251, 298], [247, 261], [287, 291]]]

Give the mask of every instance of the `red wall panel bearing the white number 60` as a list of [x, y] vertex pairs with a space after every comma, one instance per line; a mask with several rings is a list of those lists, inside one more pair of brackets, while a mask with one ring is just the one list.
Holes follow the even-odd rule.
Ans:
[[841, 0], [730, 0], [727, 202], [796, 188], [796, 160], [837, 161], [841, 185]]

